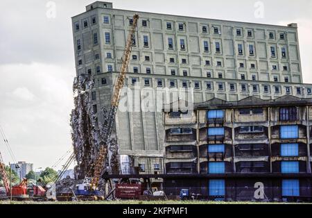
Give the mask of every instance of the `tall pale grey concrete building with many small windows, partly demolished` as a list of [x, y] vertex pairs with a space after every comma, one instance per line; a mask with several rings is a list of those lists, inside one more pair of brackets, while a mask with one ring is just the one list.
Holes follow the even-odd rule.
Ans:
[[[92, 104], [110, 105], [134, 11], [97, 1], [72, 18], [77, 75], [94, 76]], [[126, 87], [193, 88], [193, 101], [238, 101], [254, 95], [309, 97], [302, 83], [297, 24], [272, 26], [137, 12], [139, 26]], [[135, 91], [133, 91], [135, 93]], [[139, 105], [145, 94], [139, 94]], [[128, 93], [129, 98], [129, 93]], [[137, 102], [128, 102], [129, 107]], [[101, 116], [98, 116], [101, 121]], [[162, 171], [162, 112], [118, 112], [121, 154], [144, 173]], [[159, 167], [160, 165], [160, 167]]]

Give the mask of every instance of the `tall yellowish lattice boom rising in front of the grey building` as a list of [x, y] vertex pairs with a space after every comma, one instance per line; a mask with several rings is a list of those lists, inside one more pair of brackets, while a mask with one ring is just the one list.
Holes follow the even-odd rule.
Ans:
[[103, 135], [103, 143], [98, 151], [98, 157], [96, 158], [96, 162], [94, 165], [94, 175], [92, 177], [91, 187], [93, 190], [96, 190], [98, 186], [98, 181], [100, 181], [101, 174], [103, 172], [103, 165], [107, 158], [107, 144], [110, 140], [110, 136], [112, 134], [112, 128], [114, 126], [116, 112], [119, 106], [119, 100], [121, 97], [121, 90], [123, 85], [125, 84], [125, 74], [127, 73], [131, 51], [132, 51], [132, 40], [135, 37], [135, 29], [137, 28], [137, 22], [139, 19], [139, 15], [135, 14], [133, 16], [132, 27], [130, 28], [128, 34], [128, 40], [125, 45], [125, 51], [123, 53], [123, 61], [121, 64], [120, 74], [116, 79], [116, 83], [114, 84], [114, 89], [112, 93], [112, 102], [110, 113], [107, 117], [107, 123], [105, 124], [105, 135]]

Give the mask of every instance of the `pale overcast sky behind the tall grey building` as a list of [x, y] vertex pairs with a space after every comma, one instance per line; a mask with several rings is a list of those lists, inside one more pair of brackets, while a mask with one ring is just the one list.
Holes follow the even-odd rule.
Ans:
[[[0, 1], [0, 125], [16, 159], [33, 162], [35, 169], [51, 167], [71, 149], [69, 114], [73, 108], [71, 84], [76, 74], [71, 17], [84, 12], [85, 6], [92, 2]], [[51, 13], [53, 3], [55, 14]], [[312, 1], [116, 0], [113, 3], [114, 8], [192, 17], [279, 25], [298, 23], [304, 83], [312, 83]], [[263, 16], [257, 13], [261, 6]], [[12, 162], [2, 140], [0, 151], [6, 163]]]

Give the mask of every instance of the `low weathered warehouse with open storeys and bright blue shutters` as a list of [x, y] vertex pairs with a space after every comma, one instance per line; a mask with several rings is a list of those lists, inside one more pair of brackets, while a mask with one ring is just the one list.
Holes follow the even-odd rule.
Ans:
[[211, 99], [189, 112], [172, 105], [164, 113], [165, 170], [186, 179], [166, 179], [167, 194], [311, 201], [312, 99]]

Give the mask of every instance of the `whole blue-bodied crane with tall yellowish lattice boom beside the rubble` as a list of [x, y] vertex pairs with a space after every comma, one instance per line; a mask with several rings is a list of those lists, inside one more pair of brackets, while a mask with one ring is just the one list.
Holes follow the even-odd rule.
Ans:
[[105, 134], [103, 135], [103, 144], [101, 144], [101, 147], [98, 151], [98, 156], [96, 158], [96, 162], [94, 164], [94, 174], [92, 178], [85, 178], [85, 181], [83, 184], [76, 185], [75, 190], [75, 197], [76, 199], [103, 199], [103, 197], [99, 196], [98, 192], [98, 182], [101, 179], [101, 175], [103, 174], [103, 165], [105, 163], [105, 160], [107, 158], [107, 144], [110, 140], [112, 129], [114, 126], [114, 121], [116, 117], [116, 112], [118, 110], [119, 106], [119, 100], [121, 97], [121, 90], [123, 88], [123, 85], [125, 83], [125, 74], [127, 73], [129, 61], [130, 61], [130, 55], [132, 51], [132, 40], [135, 37], [135, 30], [137, 28], [137, 22], [139, 19], [139, 15], [135, 14], [133, 16], [133, 23], [132, 27], [130, 28], [129, 34], [128, 34], [128, 40], [125, 45], [125, 51], [123, 53], [122, 58], [122, 64], [120, 69], [120, 74], [116, 79], [116, 82], [114, 84], [114, 91], [112, 93], [112, 101], [111, 101], [111, 108], [109, 115], [107, 117], [107, 123], [105, 124]]

